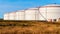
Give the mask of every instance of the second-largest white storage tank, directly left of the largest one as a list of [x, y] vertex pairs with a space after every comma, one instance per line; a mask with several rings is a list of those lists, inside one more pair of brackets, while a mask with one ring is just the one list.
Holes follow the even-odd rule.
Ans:
[[38, 20], [38, 8], [29, 8], [25, 11], [25, 20]]

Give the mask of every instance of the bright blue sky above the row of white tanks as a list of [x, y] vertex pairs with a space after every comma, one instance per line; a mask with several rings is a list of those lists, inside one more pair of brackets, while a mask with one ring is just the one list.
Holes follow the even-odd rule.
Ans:
[[60, 4], [60, 0], [0, 0], [0, 18], [3, 18], [6, 12], [14, 12], [52, 3]]

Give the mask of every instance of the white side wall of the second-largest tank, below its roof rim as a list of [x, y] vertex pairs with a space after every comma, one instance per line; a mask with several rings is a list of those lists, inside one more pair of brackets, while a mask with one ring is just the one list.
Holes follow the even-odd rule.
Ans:
[[26, 10], [25, 20], [36, 20], [36, 10]]

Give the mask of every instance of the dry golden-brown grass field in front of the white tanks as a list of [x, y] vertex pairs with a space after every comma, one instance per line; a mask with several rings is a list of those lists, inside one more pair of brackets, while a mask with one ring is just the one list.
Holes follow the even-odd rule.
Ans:
[[0, 20], [0, 34], [60, 34], [60, 24], [45, 21]]

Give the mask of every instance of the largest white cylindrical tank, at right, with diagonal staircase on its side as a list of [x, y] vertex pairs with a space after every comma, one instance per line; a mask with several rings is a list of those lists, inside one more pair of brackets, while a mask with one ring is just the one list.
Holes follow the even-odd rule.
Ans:
[[46, 6], [42, 6], [39, 9], [40, 20], [48, 20], [48, 19], [58, 19], [60, 18], [60, 5], [57, 4], [50, 4]]

